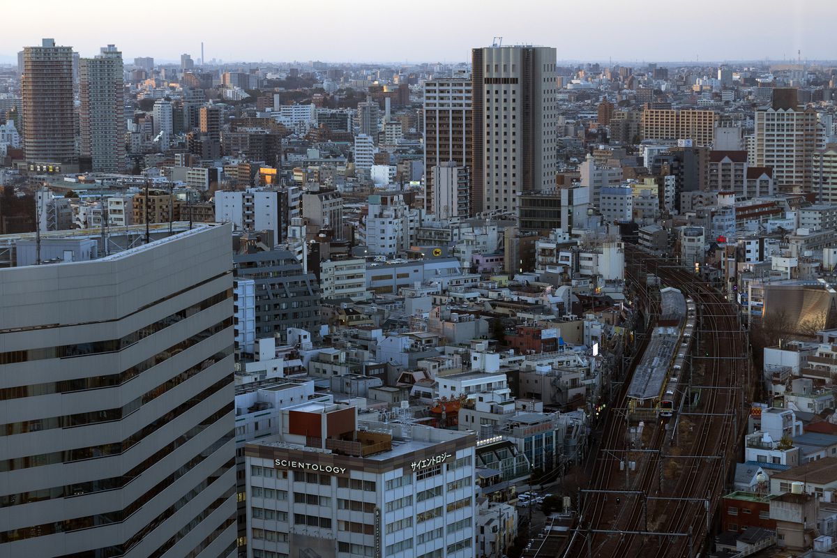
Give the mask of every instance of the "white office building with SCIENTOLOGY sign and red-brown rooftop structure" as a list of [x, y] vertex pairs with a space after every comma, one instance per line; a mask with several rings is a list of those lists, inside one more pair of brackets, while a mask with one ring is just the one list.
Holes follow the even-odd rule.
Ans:
[[244, 447], [249, 558], [475, 556], [475, 436], [286, 407]]

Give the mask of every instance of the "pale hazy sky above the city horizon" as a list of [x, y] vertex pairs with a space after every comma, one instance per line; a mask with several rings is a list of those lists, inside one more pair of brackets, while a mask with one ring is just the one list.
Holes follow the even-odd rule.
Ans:
[[3, 0], [0, 63], [50, 37], [82, 56], [292, 62], [465, 62], [538, 44], [566, 61], [837, 59], [835, 0]]

